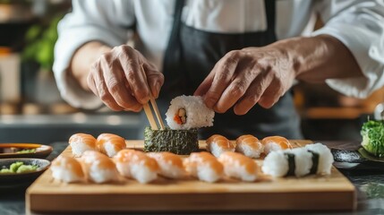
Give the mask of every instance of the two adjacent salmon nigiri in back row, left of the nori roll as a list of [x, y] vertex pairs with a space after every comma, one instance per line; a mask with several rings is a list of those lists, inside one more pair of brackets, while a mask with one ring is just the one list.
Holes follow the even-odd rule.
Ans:
[[86, 150], [98, 150], [108, 157], [114, 157], [126, 147], [125, 139], [113, 133], [101, 133], [96, 139], [88, 133], [75, 133], [69, 138], [74, 157], [81, 157]]

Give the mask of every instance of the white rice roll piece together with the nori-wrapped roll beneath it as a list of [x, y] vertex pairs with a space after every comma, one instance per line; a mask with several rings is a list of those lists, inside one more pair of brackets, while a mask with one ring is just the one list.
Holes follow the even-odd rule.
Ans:
[[207, 107], [201, 97], [179, 96], [172, 99], [166, 111], [169, 128], [144, 131], [145, 151], [170, 151], [191, 154], [199, 150], [198, 128], [213, 125], [215, 112]]

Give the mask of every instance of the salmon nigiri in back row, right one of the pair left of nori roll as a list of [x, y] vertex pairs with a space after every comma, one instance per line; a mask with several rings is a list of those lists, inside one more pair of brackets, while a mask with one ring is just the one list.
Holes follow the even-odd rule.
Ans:
[[125, 139], [113, 133], [101, 133], [96, 140], [98, 151], [108, 157], [114, 157], [119, 150], [125, 149]]

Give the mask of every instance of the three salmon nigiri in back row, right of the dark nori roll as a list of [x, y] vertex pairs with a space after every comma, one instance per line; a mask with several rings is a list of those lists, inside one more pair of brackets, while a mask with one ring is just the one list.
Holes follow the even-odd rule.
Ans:
[[257, 159], [262, 153], [268, 155], [270, 151], [292, 149], [291, 143], [282, 136], [269, 136], [261, 141], [251, 134], [245, 134], [236, 139], [235, 144], [225, 136], [214, 134], [207, 139], [207, 150], [215, 157], [224, 151], [237, 151], [243, 155]]

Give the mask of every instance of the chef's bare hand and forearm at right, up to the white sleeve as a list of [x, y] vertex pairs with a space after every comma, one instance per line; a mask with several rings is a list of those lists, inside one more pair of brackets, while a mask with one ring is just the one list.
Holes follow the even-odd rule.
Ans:
[[244, 115], [256, 103], [272, 107], [294, 79], [324, 82], [355, 77], [363, 73], [349, 49], [332, 36], [319, 35], [231, 51], [194, 94], [218, 113], [235, 106], [235, 114]]

